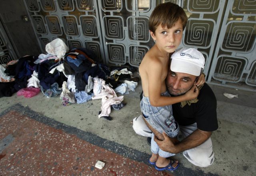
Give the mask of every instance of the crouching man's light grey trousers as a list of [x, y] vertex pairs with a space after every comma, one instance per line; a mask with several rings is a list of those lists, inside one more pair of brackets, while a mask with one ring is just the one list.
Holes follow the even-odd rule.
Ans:
[[[152, 131], [148, 128], [144, 120], [142, 119], [142, 115], [133, 119], [133, 129], [138, 135], [142, 135], [145, 137], [151, 137]], [[178, 136], [182, 136], [179, 140], [182, 140], [189, 136], [197, 129], [196, 123], [188, 126], [180, 125], [180, 132]], [[201, 145], [193, 149], [189, 149], [183, 152], [183, 155], [189, 162], [199, 167], [207, 167], [210, 166], [214, 161], [214, 153], [212, 151], [212, 140], [211, 138], [207, 139]]]

